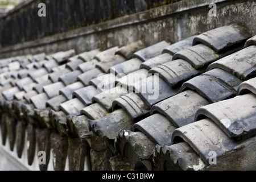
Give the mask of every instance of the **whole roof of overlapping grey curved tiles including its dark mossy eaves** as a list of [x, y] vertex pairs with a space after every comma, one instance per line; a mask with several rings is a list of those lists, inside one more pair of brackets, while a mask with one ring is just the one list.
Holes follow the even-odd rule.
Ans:
[[93, 170], [119, 158], [125, 169], [255, 169], [255, 49], [231, 24], [174, 44], [3, 59], [2, 144], [20, 158], [26, 133], [28, 164], [36, 144], [47, 154], [41, 170], [51, 152], [55, 170], [67, 158], [82, 170], [86, 156]]

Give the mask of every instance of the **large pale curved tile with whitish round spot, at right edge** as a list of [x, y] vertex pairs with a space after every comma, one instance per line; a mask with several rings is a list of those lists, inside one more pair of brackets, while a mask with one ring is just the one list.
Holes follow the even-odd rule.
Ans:
[[201, 107], [196, 118], [206, 115], [234, 139], [256, 134], [256, 96], [253, 93]]

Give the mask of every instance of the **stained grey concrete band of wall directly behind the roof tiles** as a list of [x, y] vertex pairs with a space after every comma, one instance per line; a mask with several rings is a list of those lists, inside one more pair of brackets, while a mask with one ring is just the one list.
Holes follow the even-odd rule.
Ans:
[[[217, 5], [217, 16], [208, 14], [208, 5], [211, 2]], [[5, 46], [1, 48], [0, 56], [52, 53], [68, 49], [75, 49], [80, 53], [95, 48], [124, 46], [139, 39], [146, 46], [162, 40], [175, 43], [231, 23], [243, 24], [251, 35], [255, 35], [255, 5], [256, 1], [251, 0], [183, 0], [44, 38], [16, 43], [14, 46]]]

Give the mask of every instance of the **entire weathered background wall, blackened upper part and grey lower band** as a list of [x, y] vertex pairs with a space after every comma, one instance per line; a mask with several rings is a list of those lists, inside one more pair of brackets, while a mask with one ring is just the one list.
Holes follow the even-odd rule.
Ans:
[[[66, 51], [68, 49], [75, 49], [77, 53], [80, 53], [96, 48], [107, 49], [113, 46], [124, 46], [137, 40], [142, 40], [146, 46], [150, 46], [162, 40], [175, 43], [189, 36], [231, 23], [243, 24], [252, 35], [256, 34], [256, 28], [253, 26], [256, 21], [254, 17], [256, 1], [250, 0], [216, 0], [214, 2], [217, 6], [217, 16], [209, 16], [209, 4], [213, 1], [207, 0], [183, 0], [152, 9], [150, 9], [150, 7], [159, 6], [168, 1], [133, 1], [145, 2], [144, 7], [140, 9], [138, 9], [136, 3], [125, 1], [126, 3], [128, 2], [128, 5], [134, 5], [131, 6], [133, 8], [130, 8], [130, 10], [133, 9], [133, 11], [128, 11], [129, 9], [121, 11], [121, 7], [124, 9], [124, 7], [127, 8], [127, 6], [119, 5], [119, 1], [112, 1], [111, 15], [107, 13], [110, 11], [104, 11], [105, 13], [102, 13], [102, 11], [96, 11], [96, 9], [89, 9], [91, 13], [89, 13], [88, 10], [83, 11], [83, 13], [80, 12], [81, 14], [79, 14], [75, 7], [84, 10], [86, 2], [92, 3], [92, 1], [89, 0], [79, 1], [80, 3], [83, 2], [83, 6], [77, 4], [77, 1], [72, 1], [73, 6], [69, 6], [69, 9], [71, 7], [74, 8], [73, 10], [69, 10], [73, 12], [70, 15], [67, 13], [68, 10], [53, 15], [54, 10], [63, 9], [63, 6], [65, 6], [64, 2], [67, 2], [67, 0], [55, 1], [54, 6], [47, 4], [51, 1], [44, 1], [48, 9], [47, 17], [39, 18], [38, 16], [34, 16], [38, 12], [38, 8], [35, 5], [39, 3], [39, 1], [28, 1], [30, 2], [27, 2], [28, 5], [24, 5], [24, 7], [14, 11], [13, 15], [5, 16], [1, 19], [1, 21], [5, 20], [5, 22], [9, 22], [6, 26], [1, 26], [2, 31], [4, 29], [4, 32], [9, 32], [11, 30], [10, 27], [16, 29], [16, 26], [23, 27], [25, 31], [18, 30], [19, 34], [15, 36], [10, 31], [9, 34], [12, 35], [12, 38], [5, 35], [7, 33], [1, 33], [0, 42], [2, 47], [0, 57], [36, 54], [39, 52], [52, 53]], [[105, 1], [97, 1], [97, 3], [95, 1], [93, 5], [102, 5], [103, 2]], [[150, 2], [155, 3], [150, 4]], [[99, 7], [97, 7], [97, 10]], [[104, 5], [102, 5], [102, 7], [105, 7], [105, 10], [108, 9]], [[117, 7], [116, 10], [114, 7]], [[65, 10], [66, 9], [67, 6], [65, 6]], [[119, 13], [116, 14], [117, 10], [119, 10]], [[22, 17], [26, 11], [30, 12], [30, 17], [34, 17], [34, 19], [32, 18], [28, 21], [31, 22], [30, 24], [20, 23], [20, 26], [18, 26], [17, 22], [15, 26], [15, 23], [10, 23], [15, 14], [17, 14], [17, 17]], [[141, 12], [136, 13], [137, 11]], [[96, 12], [101, 13], [96, 15]], [[94, 13], [93, 16], [88, 16], [94, 18], [91, 20], [86, 18], [86, 14], [88, 13]], [[18, 14], [20, 15], [18, 16]], [[104, 14], [104, 16], [102, 14]], [[121, 17], [116, 18], [117, 15]], [[75, 19], [82, 20], [77, 21]], [[65, 24], [65, 26], [63, 26], [63, 24]], [[45, 31], [40, 31], [40, 27]], [[32, 34], [31, 31], [34, 33]], [[14, 45], [8, 46], [10, 44]]]

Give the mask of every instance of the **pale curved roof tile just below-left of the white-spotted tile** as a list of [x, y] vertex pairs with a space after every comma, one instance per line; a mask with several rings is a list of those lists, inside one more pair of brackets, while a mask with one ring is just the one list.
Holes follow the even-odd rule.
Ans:
[[[225, 155], [227, 152], [234, 151], [236, 148], [246, 145], [246, 140], [242, 141], [244, 142], [242, 143], [241, 141], [230, 139], [209, 118], [176, 129], [172, 134], [172, 143], [179, 142], [180, 138], [187, 142], [199, 154], [205, 164], [209, 164], [209, 159], [212, 158], [211, 151], [214, 151], [218, 158], [218, 156]], [[252, 138], [251, 142], [253, 140], [255, 139]]]

